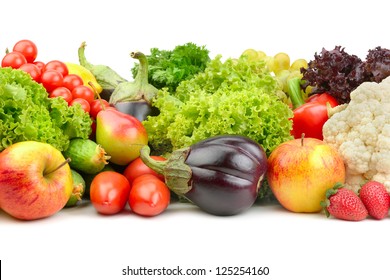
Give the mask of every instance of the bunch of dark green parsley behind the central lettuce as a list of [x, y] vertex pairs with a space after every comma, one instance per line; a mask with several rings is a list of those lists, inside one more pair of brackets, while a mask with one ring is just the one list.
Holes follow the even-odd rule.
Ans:
[[[210, 61], [209, 51], [205, 46], [194, 43], [178, 45], [173, 50], [152, 48], [148, 60], [148, 81], [158, 89], [167, 87], [175, 91], [183, 80], [192, 78], [203, 71]], [[139, 64], [131, 69], [133, 77], [137, 75]]]

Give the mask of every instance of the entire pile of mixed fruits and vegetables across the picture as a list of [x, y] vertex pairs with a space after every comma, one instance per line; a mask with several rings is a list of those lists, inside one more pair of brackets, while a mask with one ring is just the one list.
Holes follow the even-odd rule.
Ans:
[[290, 60], [206, 46], [133, 51], [132, 77], [87, 59], [0, 68], [0, 209], [20, 220], [90, 203], [158, 216], [172, 203], [238, 215], [256, 202], [382, 220], [390, 208], [390, 50]]

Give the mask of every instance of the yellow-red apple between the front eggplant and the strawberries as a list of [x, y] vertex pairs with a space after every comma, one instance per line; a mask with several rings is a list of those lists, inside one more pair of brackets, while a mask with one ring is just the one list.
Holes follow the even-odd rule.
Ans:
[[315, 138], [280, 144], [270, 154], [268, 168], [272, 192], [292, 212], [319, 212], [326, 190], [345, 182], [345, 166], [338, 151]]

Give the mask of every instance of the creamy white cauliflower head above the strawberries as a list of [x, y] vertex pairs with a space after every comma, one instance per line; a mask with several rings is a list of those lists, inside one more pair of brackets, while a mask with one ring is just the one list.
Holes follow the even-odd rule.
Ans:
[[346, 186], [357, 192], [375, 180], [390, 192], [390, 77], [362, 83], [340, 106], [330, 112], [323, 136], [344, 160]]

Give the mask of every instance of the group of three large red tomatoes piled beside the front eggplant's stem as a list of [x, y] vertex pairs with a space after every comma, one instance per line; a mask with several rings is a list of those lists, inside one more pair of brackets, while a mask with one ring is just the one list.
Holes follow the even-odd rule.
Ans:
[[[159, 156], [152, 158], [165, 160]], [[137, 158], [123, 173], [103, 171], [96, 175], [90, 186], [90, 200], [101, 214], [117, 214], [128, 204], [132, 212], [151, 217], [168, 207], [170, 191], [164, 177]]]

